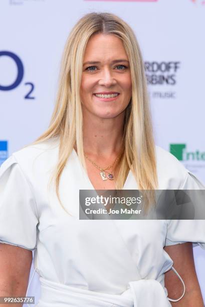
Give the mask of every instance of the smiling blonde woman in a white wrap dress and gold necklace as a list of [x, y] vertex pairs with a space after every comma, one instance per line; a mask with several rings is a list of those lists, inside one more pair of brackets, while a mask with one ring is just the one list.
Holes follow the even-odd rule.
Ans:
[[38, 307], [203, 305], [189, 242], [205, 248], [204, 221], [79, 220], [79, 190], [205, 188], [154, 145], [140, 49], [117, 16], [73, 28], [50, 126], [0, 187], [2, 296], [25, 295], [35, 249]]

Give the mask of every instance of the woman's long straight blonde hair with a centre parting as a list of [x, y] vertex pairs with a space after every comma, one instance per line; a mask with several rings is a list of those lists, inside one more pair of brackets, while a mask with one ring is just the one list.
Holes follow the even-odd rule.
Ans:
[[[56, 136], [60, 139], [59, 160], [52, 179], [55, 178], [56, 194], [61, 205], [60, 177], [74, 146], [77, 147], [79, 160], [87, 172], [83, 150], [80, 84], [85, 48], [95, 33], [112, 34], [120, 38], [130, 62], [132, 97], [125, 110], [124, 152], [120, 159], [116, 189], [123, 189], [129, 170], [132, 171], [139, 190], [154, 190], [158, 186], [147, 81], [136, 37], [130, 26], [116, 15], [89, 13], [70, 32], [63, 53], [57, 101], [49, 127], [32, 143], [37, 144]], [[150, 195], [153, 201], [153, 194]]]

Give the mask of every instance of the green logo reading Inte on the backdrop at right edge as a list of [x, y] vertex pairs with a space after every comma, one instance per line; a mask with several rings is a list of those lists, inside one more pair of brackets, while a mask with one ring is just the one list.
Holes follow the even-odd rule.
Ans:
[[186, 144], [169, 144], [169, 151], [179, 161], [205, 161], [205, 151], [187, 151]]

